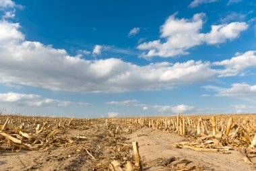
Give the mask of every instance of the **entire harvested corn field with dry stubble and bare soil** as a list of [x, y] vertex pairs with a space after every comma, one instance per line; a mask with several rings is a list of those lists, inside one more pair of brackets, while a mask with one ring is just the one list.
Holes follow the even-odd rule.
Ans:
[[0, 170], [256, 170], [255, 114], [1, 115], [0, 125]]

